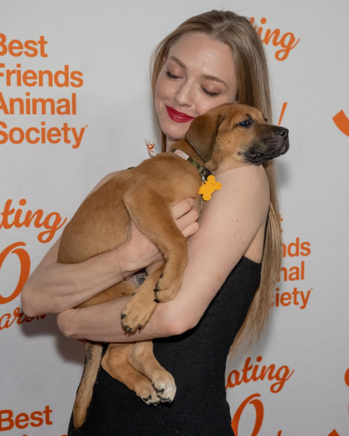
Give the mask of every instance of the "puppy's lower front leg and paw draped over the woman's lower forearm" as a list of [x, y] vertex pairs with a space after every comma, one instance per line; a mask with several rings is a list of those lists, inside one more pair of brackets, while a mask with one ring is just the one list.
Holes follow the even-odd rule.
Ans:
[[121, 323], [127, 331], [142, 329], [157, 307], [157, 303], [154, 301], [154, 287], [164, 268], [163, 262], [157, 262], [156, 265], [158, 264], [161, 266], [156, 271], [149, 272], [149, 276], [140, 285], [131, 301], [121, 310]]

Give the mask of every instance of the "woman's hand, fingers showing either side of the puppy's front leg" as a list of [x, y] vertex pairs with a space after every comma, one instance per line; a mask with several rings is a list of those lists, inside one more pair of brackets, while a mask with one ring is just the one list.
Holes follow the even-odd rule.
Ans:
[[[198, 231], [198, 211], [192, 198], [186, 198], [172, 206], [172, 216], [179, 230], [186, 238]], [[119, 248], [119, 259], [124, 276], [163, 259], [163, 254], [144, 236], [138, 228], [131, 223], [128, 241]], [[109, 252], [110, 260], [115, 267], [119, 268], [117, 250]]]

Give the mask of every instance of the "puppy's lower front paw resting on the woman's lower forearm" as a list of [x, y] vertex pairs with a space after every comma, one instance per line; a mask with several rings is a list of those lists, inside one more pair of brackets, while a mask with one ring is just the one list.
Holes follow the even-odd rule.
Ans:
[[142, 329], [156, 309], [156, 303], [137, 293], [121, 310], [121, 324], [126, 331]]

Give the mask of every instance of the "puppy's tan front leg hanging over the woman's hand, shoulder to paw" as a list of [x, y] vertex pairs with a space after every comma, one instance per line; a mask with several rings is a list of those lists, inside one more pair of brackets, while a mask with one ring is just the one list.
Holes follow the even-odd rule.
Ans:
[[146, 186], [129, 190], [124, 202], [135, 225], [155, 243], [165, 257], [166, 266], [156, 286], [156, 298], [158, 301], [174, 299], [188, 263], [188, 249], [168, 204]]

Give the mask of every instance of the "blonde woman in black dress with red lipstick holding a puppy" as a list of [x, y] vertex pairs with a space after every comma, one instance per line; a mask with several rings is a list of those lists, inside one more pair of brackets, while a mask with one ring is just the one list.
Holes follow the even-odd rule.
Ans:
[[[265, 52], [245, 17], [212, 10], [186, 20], [158, 45], [151, 65], [162, 151], [184, 137], [191, 120], [221, 103], [252, 105], [272, 119]], [[62, 265], [57, 241], [29, 278], [22, 291], [29, 316], [59, 313], [61, 331], [78, 340], [156, 338], [156, 359], [177, 384], [172, 404], [148, 406], [101, 368], [87, 421], [79, 431], [70, 422], [68, 435], [234, 434], [225, 362], [229, 351], [258, 340], [267, 322], [281, 264], [281, 230], [273, 161], [215, 175], [224, 188], [203, 205], [198, 223], [191, 199], [173, 208], [179, 229], [191, 236], [188, 266], [177, 296], [159, 304], [141, 331], [130, 335], [121, 326], [129, 296], [73, 309], [121, 281], [114, 251]], [[127, 276], [161, 260], [161, 253], [132, 227], [119, 258]]]

